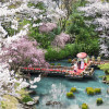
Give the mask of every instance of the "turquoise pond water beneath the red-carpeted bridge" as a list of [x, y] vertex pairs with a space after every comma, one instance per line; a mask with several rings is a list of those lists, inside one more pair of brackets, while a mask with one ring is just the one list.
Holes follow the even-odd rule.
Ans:
[[[55, 62], [53, 62], [55, 63]], [[62, 60], [56, 63], [61, 63], [62, 65], [68, 64], [66, 60]], [[37, 109], [80, 109], [83, 102], [86, 102], [90, 109], [109, 109], [109, 95], [107, 89], [109, 85], [104, 84], [101, 77], [105, 75], [104, 71], [95, 70], [93, 78], [84, 80], [68, 80], [65, 77], [44, 77], [37, 84], [37, 96], [40, 96], [39, 105], [36, 106]], [[33, 75], [34, 77], [35, 75]], [[70, 92], [71, 87], [76, 87], [77, 93], [74, 93], [75, 98], [69, 99], [65, 95]], [[95, 96], [88, 96], [85, 92], [86, 87], [101, 88], [101, 94]], [[102, 98], [104, 105], [96, 106], [96, 99]], [[47, 101], [60, 101], [62, 105], [57, 106], [46, 106]]]

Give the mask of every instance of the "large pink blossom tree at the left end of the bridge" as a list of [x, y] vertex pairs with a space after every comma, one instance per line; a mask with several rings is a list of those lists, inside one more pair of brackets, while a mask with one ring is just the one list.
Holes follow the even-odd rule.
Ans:
[[19, 40], [14, 40], [9, 47], [2, 48], [4, 51], [2, 61], [8, 62], [13, 70], [16, 70], [19, 66], [47, 66], [45, 51], [37, 49], [37, 41], [22, 37]]

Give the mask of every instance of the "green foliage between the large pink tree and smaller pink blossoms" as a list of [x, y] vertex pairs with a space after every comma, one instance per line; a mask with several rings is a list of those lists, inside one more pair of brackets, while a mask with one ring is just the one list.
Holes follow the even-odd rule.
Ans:
[[[40, 20], [37, 20], [35, 23], [40, 23]], [[48, 49], [51, 45], [51, 41], [55, 39], [56, 35], [61, 33], [61, 28], [57, 27], [52, 32], [49, 33], [39, 33], [38, 27], [31, 27], [29, 36], [36, 39], [40, 45], [40, 48]]]

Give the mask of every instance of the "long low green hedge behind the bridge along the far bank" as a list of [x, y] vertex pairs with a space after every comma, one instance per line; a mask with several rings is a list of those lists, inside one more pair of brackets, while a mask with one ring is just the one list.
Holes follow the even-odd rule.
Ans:
[[[49, 47], [46, 52], [46, 59], [49, 61], [64, 59], [68, 57], [76, 57], [78, 52], [87, 52], [89, 56], [97, 55], [99, 51], [98, 43], [94, 41], [95, 45], [85, 45], [85, 44], [68, 44], [60, 51]], [[57, 48], [56, 48], [57, 49]]]

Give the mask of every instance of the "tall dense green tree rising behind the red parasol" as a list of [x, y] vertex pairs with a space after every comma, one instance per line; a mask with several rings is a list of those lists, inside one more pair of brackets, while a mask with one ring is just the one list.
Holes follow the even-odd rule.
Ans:
[[[70, 19], [66, 21], [65, 31], [68, 34], [72, 35], [74, 41], [77, 45], [77, 50], [87, 52], [89, 56], [99, 53], [99, 43], [98, 43], [98, 33], [95, 32], [95, 25], [86, 25], [84, 13], [78, 12], [76, 9], [80, 5], [84, 5], [86, 2], [78, 2], [74, 7]], [[90, 20], [90, 17], [88, 17]]]

